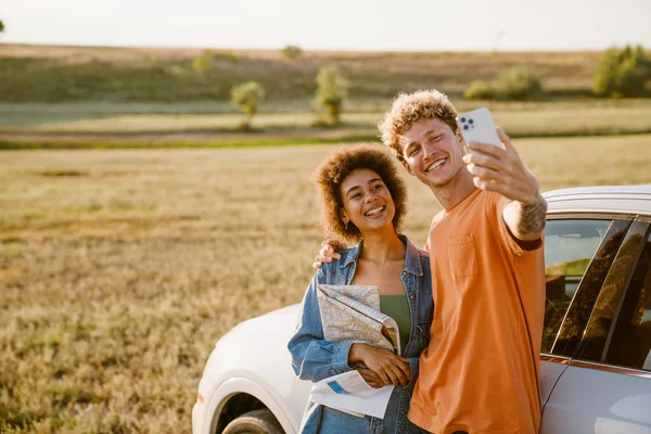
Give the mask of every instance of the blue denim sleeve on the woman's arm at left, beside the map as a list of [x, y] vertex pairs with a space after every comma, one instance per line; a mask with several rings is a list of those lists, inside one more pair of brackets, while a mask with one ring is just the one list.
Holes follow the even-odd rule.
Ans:
[[301, 380], [312, 382], [352, 370], [348, 366], [348, 353], [353, 343], [329, 342], [323, 339], [323, 324], [317, 298], [319, 278], [327, 272], [323, 268], [326, 267], [317, 271], [307, 288], [296, 333], [288, 344], [294, 373]]

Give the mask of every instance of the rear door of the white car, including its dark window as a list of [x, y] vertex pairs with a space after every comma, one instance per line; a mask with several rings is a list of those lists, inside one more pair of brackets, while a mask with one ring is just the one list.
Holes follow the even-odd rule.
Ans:
[[565, 368], [541, 433], [651, 433], [650, 222], [638, 217], [615, 240], [614, 259], [599, 265], [608, 269], [595, 284], [597, 297], [572, 301], [551, 349]]

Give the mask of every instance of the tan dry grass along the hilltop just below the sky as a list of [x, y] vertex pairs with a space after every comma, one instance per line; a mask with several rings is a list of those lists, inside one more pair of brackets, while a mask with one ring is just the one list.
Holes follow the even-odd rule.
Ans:
[[[202, 53], [193, 48], [123, 48], [123, 47], [63, 47], [2, 44], [0, 56], [8, 59], [42, 59], [84, 65], [93, 62], [112, 66], [143, 64], [144, 62], [193, 61]], [[468, 82], [482, 76], [494, 76], [503, 67], [528, 65], [542, 76], [554, 77], [562, 88], [573, 87], [590, 76], [601, 51], [561, 52], [373, 52], [373, 51], [304, 51], [295, 60], [285, 59], [280, 50], [212, 50], [218, 58], [248, 59], [260, 65], [319, 67], [336, 63], [353, 73], [379, 73], [446, 78], [446, 82]], [[477, 76], [478, 74], [478, 76]], [[567, 82], [567, 77], [573, 77]], [[591, 80], [591, 77], [590, 77]], [[580, 86], [580, 85], [579, 85]]]

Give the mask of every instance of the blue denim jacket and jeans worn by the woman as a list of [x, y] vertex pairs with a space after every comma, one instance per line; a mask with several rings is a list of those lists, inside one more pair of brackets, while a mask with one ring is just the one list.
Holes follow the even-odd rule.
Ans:
[[[430, 343], [432, 324], [432, 275], [429, 255], [417, 248], [407, 237], [400, 235], [406, 245], [405, 269], [400, 280], [405, 285], [411, 330], [403, 357], [409, 360], [411, 380], [406, 386], [394, 388], [384, 419], [366, 416], [358, 418], [330, 407], [308, 403], [301, 423], [302, 433], [406, 433], [409, 400], [418, 376], [418, 359]], [[326, 378], [350, 371], [348, 352], [350, 342], [328, 342], [323, 339], [323, 326], [317, 299], [317, 284], [350, 284], [362, 244], [340, 252], [341, 259], [333, 260], [317, 271], [305, 297], [296, 333], [288, 347], [292, 354], [292, 368], [302, 380], [318, 382]]]

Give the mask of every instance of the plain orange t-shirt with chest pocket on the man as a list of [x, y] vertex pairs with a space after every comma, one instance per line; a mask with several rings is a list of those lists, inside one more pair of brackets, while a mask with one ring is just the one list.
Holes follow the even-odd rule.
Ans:
[[520, 247], [508, 203], [475, 189], [432, 221], [434, 321], [409, 419], [435, 434], [538, 432], [542, 241]]

